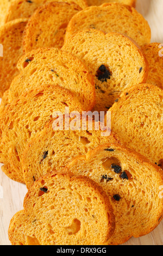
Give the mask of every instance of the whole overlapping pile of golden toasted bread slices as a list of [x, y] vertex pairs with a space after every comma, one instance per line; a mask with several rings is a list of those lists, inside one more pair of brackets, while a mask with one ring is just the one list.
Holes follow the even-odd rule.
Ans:
[[11, 245], [121, 245], [161, 222], [163, 54], [135, 6], [1, 1], [0, 162], [28, 189]]

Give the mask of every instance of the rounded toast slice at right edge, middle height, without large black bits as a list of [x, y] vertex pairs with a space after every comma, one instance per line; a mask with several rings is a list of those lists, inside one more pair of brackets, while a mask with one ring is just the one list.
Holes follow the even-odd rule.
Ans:
[[163, 91], [151, 84], [139, 84], [123, 92], [109, 109], [111, 130], [122, 144], [146, 156], [163, 168]]

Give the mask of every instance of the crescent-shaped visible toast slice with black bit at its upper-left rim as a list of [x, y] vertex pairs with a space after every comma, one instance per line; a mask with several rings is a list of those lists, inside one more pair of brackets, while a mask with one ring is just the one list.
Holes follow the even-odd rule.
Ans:
[[58, 84], [70, 90], [85, 111], [95, 106], [95, 84], [86, 66], [71, 53], [57, 48], [40, 48], [24, 55], [17, 64], [21, 71], [9, 88], [9, 102], [40, 83]]

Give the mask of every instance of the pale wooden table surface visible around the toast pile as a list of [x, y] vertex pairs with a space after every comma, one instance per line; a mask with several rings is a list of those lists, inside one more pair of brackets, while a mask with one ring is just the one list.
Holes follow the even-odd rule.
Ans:
[[[163, 0], [137, 0], [136, 9], [148, 20], [152, 31], [152, 42], [163, 43]], [[2, 164], [0, 165], [1, 168]], [[11, 217], [23, 209], [27, 193], [25, 185], [10, 180], [0, 172], [0, 245], [10, 245], [8, 227]], [[131, 238], [124, 245], [163, 245], [163, 221], [150, 234]]]

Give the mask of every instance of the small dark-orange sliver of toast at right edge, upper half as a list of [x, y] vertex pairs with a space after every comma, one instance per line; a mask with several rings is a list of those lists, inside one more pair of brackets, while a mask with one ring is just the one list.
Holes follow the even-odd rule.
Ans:
[[154, 84], [163, 89], [163, 45], [158, 42], [152, 42], [151, 44], [142, 47], [143, 52], [146, 55], [146, 59], [149, 64], [149, 72], [147, 77], [147, 83]]

